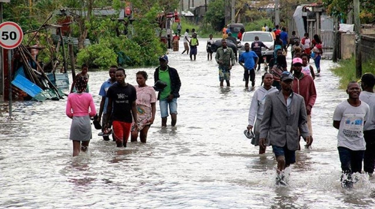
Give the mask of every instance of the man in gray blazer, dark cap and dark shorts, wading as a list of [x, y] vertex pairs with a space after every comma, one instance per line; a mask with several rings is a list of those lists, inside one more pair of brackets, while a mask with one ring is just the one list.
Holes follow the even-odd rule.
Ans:
[[281, 74], [281, 90], [270, 93], [265, 102], [263, 119], [260, 124], [260, 146], [266, 148], [269, 138], [272, 150], [278, 162], [278, 184], [285, 184], [282, 171], [296, 162], [296, 150], [299, 148], [299, 133], [311, 144], [307, 126], [307, 114], [303, 97], [293, 93], [294, 77], [288, 71]]

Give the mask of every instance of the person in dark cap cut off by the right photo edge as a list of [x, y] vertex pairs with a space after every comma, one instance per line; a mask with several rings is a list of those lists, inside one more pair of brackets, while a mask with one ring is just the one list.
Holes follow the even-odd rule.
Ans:
[[359, 95], [361, 101], [369, 105], [369, 118], [363, 127], [363, 136], [366, 141], [366, 151], [363, 156], [363, 170], [372, 176], [375, 167], [375, 76], [365, 73], [361, 78], [362, 92]]

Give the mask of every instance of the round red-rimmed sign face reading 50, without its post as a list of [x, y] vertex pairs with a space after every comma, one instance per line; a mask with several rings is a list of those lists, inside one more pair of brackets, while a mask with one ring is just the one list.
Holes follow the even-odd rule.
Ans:
[[14, 49], [21, 44], [23, 32], [15, 22], [3, 22], [0, 24], [0, 46], [4, 49]]

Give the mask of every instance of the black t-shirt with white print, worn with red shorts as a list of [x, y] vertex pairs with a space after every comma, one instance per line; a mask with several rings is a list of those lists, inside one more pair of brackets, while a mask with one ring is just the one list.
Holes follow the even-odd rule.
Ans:
[[137, 99], [135, 87], [129, 83], [126, 86], [115, 83], [108, 89], [107, 97], [112, 98], [113, 102], [112, 119], [131, 123], [132, 103]]

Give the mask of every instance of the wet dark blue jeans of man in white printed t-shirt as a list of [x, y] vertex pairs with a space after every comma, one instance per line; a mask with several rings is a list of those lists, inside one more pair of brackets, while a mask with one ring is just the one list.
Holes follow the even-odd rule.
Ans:
[[[362, 160], [365, 150], [351, 150], [346, 147], [338, 147], [340, 162], [341, 162], [341, 181], [344, 185], [352, 184], [351, 174], [361, 173]], [[344, 175], [347, 175], [347, 180], [344, 180]]]

